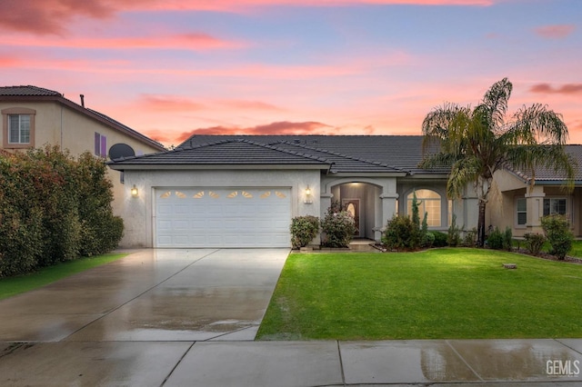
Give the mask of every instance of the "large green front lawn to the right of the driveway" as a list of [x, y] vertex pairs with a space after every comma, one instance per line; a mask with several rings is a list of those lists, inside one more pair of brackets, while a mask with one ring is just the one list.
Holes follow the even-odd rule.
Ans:
[[258, 340], [555, 337], [582, 337], [582, 265], [460, 248], [291, 254], [257, 334]]

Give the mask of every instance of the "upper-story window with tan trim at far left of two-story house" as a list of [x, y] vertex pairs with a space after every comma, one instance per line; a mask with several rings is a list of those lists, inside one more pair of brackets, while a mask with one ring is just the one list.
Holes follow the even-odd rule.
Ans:
[[34, 109], [25, 107], [11, 107], [2, 110], [5, 148], [35, 146], [35, 114]]

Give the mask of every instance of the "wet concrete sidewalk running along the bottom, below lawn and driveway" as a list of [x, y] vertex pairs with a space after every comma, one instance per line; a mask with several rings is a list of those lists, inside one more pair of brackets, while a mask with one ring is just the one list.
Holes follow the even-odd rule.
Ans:
[[0, 342], [3, 386], [582, 385], [582, 339]]

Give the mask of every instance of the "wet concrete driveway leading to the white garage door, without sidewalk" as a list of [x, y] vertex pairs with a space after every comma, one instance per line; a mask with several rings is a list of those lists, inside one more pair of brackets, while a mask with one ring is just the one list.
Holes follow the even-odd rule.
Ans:
[[131, 253], [0, 302], [0, 342], [253, 340], [288, 253]]

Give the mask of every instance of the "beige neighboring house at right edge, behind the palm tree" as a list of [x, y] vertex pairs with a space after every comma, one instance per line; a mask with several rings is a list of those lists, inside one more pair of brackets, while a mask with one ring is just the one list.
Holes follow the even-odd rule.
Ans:
[[574, 192], [565, 192], [566, 174], [560, 171], [537, 168], [534, 176], [512, 169], [499, 171], [487, 203], [487, 224], [500, 230], [511, 227], [513, 235], [520, 237], [543, 233], [540, 218], [559, 213], [567, 216], [573, 233], [582, 236], [582, 145], [566, 145], [565, 149], [577, 163]]

